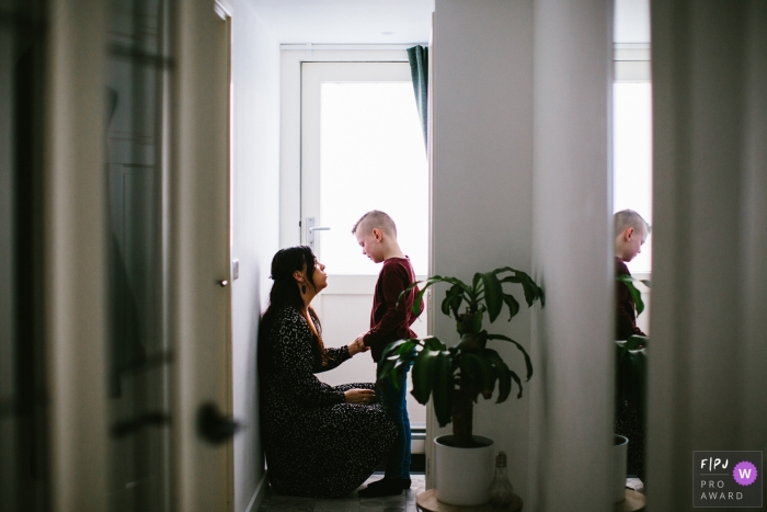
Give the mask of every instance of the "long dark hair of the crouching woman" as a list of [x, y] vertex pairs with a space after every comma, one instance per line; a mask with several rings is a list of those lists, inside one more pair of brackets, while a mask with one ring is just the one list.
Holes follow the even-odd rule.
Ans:
[[[314, 286], [314, 265], [317, 260], [314, 253], [308, 246], [297, 246], [281, 249], [272, 259], [272, 275], [270, 276], [274, 284], [268, 294], [268, 306], [259, 326], [259, 366], [262, 371], [268, 371], [272, 365], [272, 354], [274, 341], [270, 339], [272, 327], [279, 311], [285, 307], [294, 307], [297, 311], [304, 308], [304, 298], [298, 291], [298, 285], [293, 276], [293, 273], [304, 272], [306, 270], [307, 281], [311, 286]], [[313, 314], [311, 307], [309, 310]], [[312, 344], [312, 353], [314, 360], [324, 365], [325, 348], [322, 339], [314, 335]]]

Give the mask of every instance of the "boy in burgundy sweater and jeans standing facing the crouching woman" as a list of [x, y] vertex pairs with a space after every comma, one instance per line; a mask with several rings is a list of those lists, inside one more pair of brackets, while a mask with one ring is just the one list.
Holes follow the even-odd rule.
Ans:
[[[413, 314], [417, 287], [398, 304], [400, 294], [415, 282], [415, 272], [397, 242], [397, 226], [389, 215], [376, 209], [368, 212], [357, 220], [352, 234], [357, 237], [363, 254], [375, 263], [384, 262], [373, 297], [370, 330], [355, 340], [368, 346], [373, 361], [378, 363], [389, 343], [415, 338], [410, 326], [421, 315], [423, 304], [421, 310]], [[405, 402], [407, 376], [407, 371], [400, 374], [399, 388], [388, 379], [379, 383], [381, 403], [397, 425], [397, 440], [387, 456], [384, 478], [360, 490], [362, 497], [396, 496], [403, 489], [410, 489], [411, 434]]]

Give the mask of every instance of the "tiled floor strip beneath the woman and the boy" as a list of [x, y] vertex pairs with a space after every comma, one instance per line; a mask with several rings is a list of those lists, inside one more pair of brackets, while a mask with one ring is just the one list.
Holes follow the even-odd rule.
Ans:
[[[382, 478], [382, 475], [373, 475], [360, 487], [368, 482]], [[259, 508], [259, 512], [291, 511], [291, 512], [415, 512], [415, 496], [424, 490], [423, 475], [412, 475], [412, 485], [400, 496], [386, 498], [359, 498], [354, 491], [346, 498], [335, 500], [316, 500], [312, 498], [296, 498], [279, 496], [272, 490], [266, 491], [266, 497]]]

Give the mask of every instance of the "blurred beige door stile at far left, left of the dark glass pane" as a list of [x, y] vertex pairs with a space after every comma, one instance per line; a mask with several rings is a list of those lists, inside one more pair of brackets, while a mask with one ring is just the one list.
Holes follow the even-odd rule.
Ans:
[[106, 7], [47, 10], [44, 305], [48, 505], [107, 510]]

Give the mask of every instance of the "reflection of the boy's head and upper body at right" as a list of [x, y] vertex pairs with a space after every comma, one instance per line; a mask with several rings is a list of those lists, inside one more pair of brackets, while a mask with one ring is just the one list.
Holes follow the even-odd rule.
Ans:
[[[616, 277], [631, 275], [626, 262], [642, 252], [642, 244], [650, 235], [650, 225], [632, 209], [615, 214], [615, 273]], [[637, 327], [637, 312], [633, 298], [626, 283], [617, 282], [616, 340], [627, 340], [630, 335], [646, 335]]]

